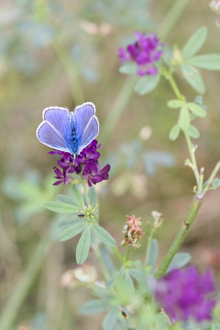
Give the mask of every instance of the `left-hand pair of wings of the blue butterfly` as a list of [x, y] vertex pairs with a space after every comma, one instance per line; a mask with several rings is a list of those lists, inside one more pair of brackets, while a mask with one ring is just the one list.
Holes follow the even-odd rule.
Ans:
[[37, 128], [37, 138], [48, 147], [70, 152], [70, 114], [66, 108], [49, 107], [43, 111], [43, 121]]

